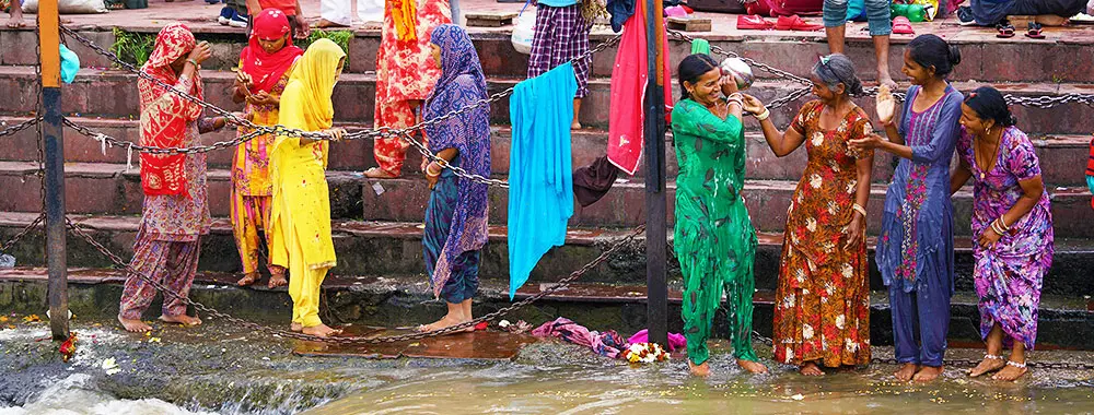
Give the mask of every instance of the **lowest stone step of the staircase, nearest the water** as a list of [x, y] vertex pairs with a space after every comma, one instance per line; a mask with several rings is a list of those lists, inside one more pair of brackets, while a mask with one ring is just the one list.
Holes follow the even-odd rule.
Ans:
[[[69, 273], [69, 307], [82, 319], [110, 320], [118, 311], [118, 298], [125, 275], [115, 270], [71, 269]], [[43, 313], [46, 304], [48, 276], [45, 269], [0, 270], [0, 293], [20, 295], [0, 296], [0, 307], [15, 313]], [[214, 272], [199, 272], [190, 290], [190, 298], [222, 312], [248, 320], [269, 323], [287, 321], [292, 303], [284, 288], [276, 290], [263, 286], [240, 288], [235, 276]], [[435, 319], [443, 313], [443, 305], [433, 300], [423, 276], [328, 276], [324, 283], [326, 301], [323, 316], [359, 325], [408, 327]], [[476, 315], [491, 312], [511, 304], [503, 281], [484, 280], [475, 298]], [[526, 285], [516, 299], [537, 294], [546, 286]], [[507, 315], [510, 321], [525, 320], [534, 327], [557, 317], [569, 317], [590, 330], [616, 330], [629, 334], [645, 328], [645, 286], [626, 284], [575, 283], [548, 295], [537, 303]], [[160, 306], [153, 304], [150, 309]], [[668, 290], [668, 329], [683, 331], [680, 319], [682, 294], [678, 285]], [[947, 340], [954, 344], [980, 344], [977, 297], [974, 293], [957, 293], [952, 299]], [[770, 336], [775, 307], [775, 293], [757, 290], [753, 296], [753, 328], [760, 335]], [[724, 304], [723, 304], [724, 306]], [[1037, 322], [1037, 349], [1094, 348], [1094, 304], [1087, 298], [1046, 294], [1040, 298]], [[871, 344], [893, 343], [893, 319], [888, 299], [875, 292], [870, 298]], [[153, 311], [154, 312], [154, 311]], [[151, 313], [151, 312], [150, 312]], [[208, 316], [201, 316], [208, 318]], [[728, 337], [725, 308], [714, 318], [712, 335]], [[764, 346], [760, 346], [764, 347]]]

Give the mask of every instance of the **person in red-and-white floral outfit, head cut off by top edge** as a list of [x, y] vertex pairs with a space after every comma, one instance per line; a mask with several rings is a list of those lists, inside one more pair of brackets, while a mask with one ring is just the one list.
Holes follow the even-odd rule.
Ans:
[[[387, 0], [383, 39], [376, 54], [376, 128], [407, 128], [415, 110], [433, 91], [441, 76], [433, 64], [429, 34], [452, 23], [449, 0]], [[401, 138], [375, 141], [373, 154], [380, 167], [364, 173], [370, 178], [395, 178], [406, 161], [407, 142]]]

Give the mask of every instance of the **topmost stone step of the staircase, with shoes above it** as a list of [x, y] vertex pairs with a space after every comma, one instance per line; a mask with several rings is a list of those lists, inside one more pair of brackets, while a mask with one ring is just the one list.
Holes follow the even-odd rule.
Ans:
[[[509, 8], [520, 10], [521, 4]], [[714, 29], [709, 33], [691, 33], [690, 36], [710, 40], [712, 46], [737, 52], [744, 57], [770, 64], [775, 68], [799, 75], [806, 75], [812, 69], [817, 55], [827, 54], [827, 40], [823, 32], [783, 32], [783, 31], [738, 31], [730, 21], [733, 15], [719, 13], [702, 13], [711, 17]], [[154, 35], [160, 25], [156, 22], [120, 22], [120, 28], [129, 32]], [[962, 27], [948, 22], [917, 23], [917, 33], [934, 33], [948, 42], [956, 44], [962, 50], [962, 64], [952, 74], [953, 80], [982, 82], [1094, 82], [1094, 73], [1084, 70], [1092, 63], [1086, 45], [1094, 43], [1094, 31], [1089, 27], [1051, 27], [1050, 36], [1041, 42], [1021, 42], [1015, 39], [998, 39], [994, 32], [979, 27]], [[246, 46], [244, 31], [241, 28], [219, 25], [189, 23], [191, 31], [199, 40], [208, 40], [212, 46], [212, 58], [203, 63], [208, 69], [231, 69], [238, 62], [240, 51]], [[847, 33], [848, 54], [857, 63], [859, 75], [864, 80], [875, 80], [875, 57], [870, 36], [862, 32], [861, 24], [852, 23]], [[109, 47], [115, 42], [113, 26], [94, 24], [70, 25], [97, 45]], [[527, 73], [527, 55], [513, 49], [511, 33], [513, 26], [500, 28], [469, 27], [469, 34], [475, 43], [488, 75], [524, 76]], [[22, 48], [19, 45], [33, 45], [33, 31], [0, 32], [0, 63], [5, 66], [30, 66], [37, 61], [33, 48]], [[613, 37], [607, 27], [594, 28], [591, 42], [595, 47]], [[366, 73], [375, 71], [375, 54], [380, 47], [380, 31], [376, 28], [359, 29], [349, 43], [349, 64], [347, 72]], [[889, 56], [889, 68], [897, 80], [904, 79], [899, 68], [904, 64], [904, 49], [912, 36], [893, 36]], [[13, 47], [11, 45], [16, 45]], [[69, 47], [80, 55], [84, 68], [109, 68], [110, 62], [75, 40], [68, 42]], [[610, 76], [613, 63], [617, 55], [616, 47], [608, 48], [594, 56], [593, 75]], [[676, 38], [670, 38], [670, 59], [673, 76], [676, 66], [690, 52], [690, 45]], [[1027, 63], [1017, 66], [1015, 61]], [[756, 70], [760, 78], [771, 74]]]

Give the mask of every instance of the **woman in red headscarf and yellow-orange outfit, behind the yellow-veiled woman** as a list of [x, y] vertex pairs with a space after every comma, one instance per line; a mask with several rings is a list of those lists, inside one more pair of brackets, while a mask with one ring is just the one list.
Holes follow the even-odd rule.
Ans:
[[[304, 51], [292, 46], [289, 17], [284, 12], [266, 9], [255, 15], [253, 22], [251, 43], [240, 54], [240, 72], [232, 98], [236, 103], [247, 103], [244, 112], [254, 123], [275, 126], [281, 92], [289, 82], [293, 63]], [[252, 132], [247, 127], [240, 127], [240, 135]], [[258, 135], [240, 144], [232, 159], [232, 230], [243, 262], [241, 286], [254, 284], [260, 277], [258, 229], [266, 229], [270, 217], [272, 186], [267, 149], [272, 143], [274, 135]], [[288, 284], [284, 269], [267, 265], [270, 288]]]

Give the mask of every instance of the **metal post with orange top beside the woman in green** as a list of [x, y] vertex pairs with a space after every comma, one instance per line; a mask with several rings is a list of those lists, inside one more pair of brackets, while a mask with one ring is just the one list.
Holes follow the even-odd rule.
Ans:
[[665, 216], [664, 3], [645, 0], [649, 83], [645, 87], [645, 282], [650, 342], [668, 344], [667, 229]]

